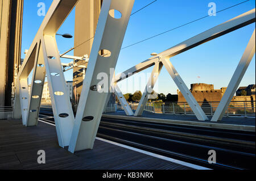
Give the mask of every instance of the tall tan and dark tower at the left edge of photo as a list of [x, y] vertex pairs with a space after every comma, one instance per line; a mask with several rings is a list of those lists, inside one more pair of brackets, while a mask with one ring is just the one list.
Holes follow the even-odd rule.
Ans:
[[12, 106], [20, 64], [22, 17], [23, 0], [0, 1], [0, 107]]

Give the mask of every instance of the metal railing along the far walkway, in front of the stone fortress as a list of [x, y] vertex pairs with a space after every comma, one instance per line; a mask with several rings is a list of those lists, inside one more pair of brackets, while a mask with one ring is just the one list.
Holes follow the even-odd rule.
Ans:
[[[199, 105], [205, 114], [212, 116], [219, 103], [220, 102], [199, 102]], [[147, 103], [145, 110], [155, 113], [194, 114], [187, 102]], [[230, 102], [224, 116], [255, 117], [255, 100]]]

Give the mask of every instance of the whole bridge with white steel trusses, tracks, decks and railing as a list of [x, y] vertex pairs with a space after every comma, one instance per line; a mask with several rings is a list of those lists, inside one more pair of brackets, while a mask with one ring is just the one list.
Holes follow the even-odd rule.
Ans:
[[[1, 169], [255, 169], [255, 100], [232, 104], [255, 55], [255, 29], [247, 47], [241, 47], [245, 51], [220, 102], [197, 102], [171, 62], [178, 54], [255, 23], [255, 9], [115, 75], [134, 0], [102, 2], [90, 55], [83, 57], [60, 54], [55, 37], [78, 2], [52, 2], [16, 75], [13, 105], [0, 107]], [[61, 57], [86, 65], [64, 65]], [[65, 66], [86, 69], [76, 110], [66, 88]], [[141, 100], [128, 103], [117, 83], [150, 67]], [[186, 102], [148, 103], [163, 68]], [[100, 81], [99, 74], [108, 78]], [[46, 77], [48, 106], [42, 104]], [[109, 104], [112, 93], [119, 104]], [[45, 151], [47, 163], [38, 164], [38, 150]], [[209, 161], [211, 151], [217, 162]]]

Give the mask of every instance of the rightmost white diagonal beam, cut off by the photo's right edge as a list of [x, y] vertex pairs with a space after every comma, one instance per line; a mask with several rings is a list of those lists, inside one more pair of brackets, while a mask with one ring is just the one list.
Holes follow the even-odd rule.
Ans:
[[212, 120], [210, 120], [210, 121], [222, 120], [222, 117], [223, 117], [226, 109], [228, 108], [230, 101], [233, 98], [233, 95], [235, 94], [236, 90], [238, 89], [238, 86], [241, 83], [243, 75], [245, 75], [245, 72], [246, 72], [254, 54], [255, 54], [255, 29], [254, 29], [253, 35], [251, 36], [251, 39], [245, 49], [245, 52], [243, 53], [243, 56], [237, 66], [237, 69], [234, 72], [233, 77], [231, 78], [231, 81], [229, 82], [229, 85], [225, 91], [225, 94], [221, 98], [221, 102], [218, 105], [217, 110], [214, 112]]

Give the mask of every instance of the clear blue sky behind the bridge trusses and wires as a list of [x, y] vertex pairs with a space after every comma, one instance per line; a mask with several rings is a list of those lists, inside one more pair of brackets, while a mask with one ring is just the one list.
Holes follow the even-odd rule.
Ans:
[[[37, 6], [39, 2], [46, 3], [46, 10], [48, 10], [52, 0], [24, 0], [22, 58], [24, 58], [24, 50], [29, 49], [44, 18], [44, 16], [37, 15], [39, 9]], [[141, 9], [141, 7], [150, 2], [152, 2], [152, 0], [135, 0], [133, 12]], [[158, 0], [146, 9], [131, 16], [123, 41], [123, 47], [208, 15], [209, 2], [216, 3], [217, 11], [219, 11], [242, 1]], [[235, 16], [254, 8], [255, 1], [251, 0], [242, 5], [233, 7], [232, 9], [220, 12], [217, 16], [210, 16], [164, 35], [155, 37], [154, 39], [144, 41], [141, 44], [123, 49], [118, 58], [116, 72], [120, 73], [139, 64], [139, 62], [149, 58], [150, 53], [152, 52], [163, 52], [181, 41], [187, 40], [198, 33], [206, 31], [209, 28], [217, 26], [226, 20], [232, 19]], [[75, 9], [68, 16], [67, 20], [60, 28], [59, 33], [71, 33], [74, 35], [74, 27]], [[242, 57], [254, 28], [255, 23], [250, 24], [240, 30], [236, 30], [228, 35], [219, 37], [218, 39], [209, 41], [199, 47], [172, 57], [170, 60], [188, 87], [190, 87], [191, 83], [197, 82], [214, 84], [215, 89], [226, 87]], [[63, 39], [61, 36], [57, 36], [57, 43], [61, 53], [73, 47], [73, 39]], [[73, 55], [73, 52], [70, 52], [69, 54]], [[69, 62], [69, 60], [62, 61]], [[152, 68], [149, 68], [144, 70], [143, 73], [150, 73], [151, 70]], [[200, 78], [198, 78], [198, 76], [200, 76]], [[71, 81], [72, 71], [65, 73], [65, 78], [67, 81]], [[127, 81], [131, 81], [132, 79], [133, 78], [129, 78]], [[136, 90], [142, 91], [145, 83], [146, 82], [141, 85], [129, 87], [127, 86], [127, 82], [121, 82], [119, 83], [119, 86], [123, 93], [126, 93], [134, 92]], [[255, 56], [253, 57], [240, 86], [247, 86], [249, 84], [255, 84]], [[174, 81], [172, 81], [165, 68], [163, 68], [162, 73], [159, 75], [157, 85], [158, 87], [156, 91], [159, 93], [163, 92], [164, 94], [168, 94], [170, 92], [171, 94], [176, 94], [177, 86]]]

